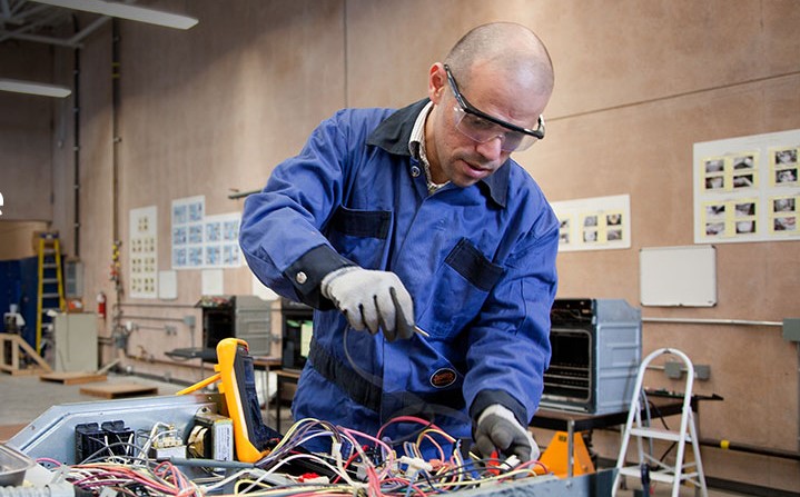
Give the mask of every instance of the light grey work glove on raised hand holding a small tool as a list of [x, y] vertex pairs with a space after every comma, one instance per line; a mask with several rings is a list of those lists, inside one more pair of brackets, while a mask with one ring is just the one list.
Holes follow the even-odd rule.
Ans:
[[388, 341], [414, 335], [414, 301], [394, 272], [348, 266], [326, 275], [320, 290], [357, 330], [383, 328]]

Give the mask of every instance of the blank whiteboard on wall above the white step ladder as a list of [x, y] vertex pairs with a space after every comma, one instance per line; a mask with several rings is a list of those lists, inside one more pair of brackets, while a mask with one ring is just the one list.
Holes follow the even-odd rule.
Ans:
[[717, 249], [711, 245], [642, 248], [639, 290], [642, 306], [713, 307]]

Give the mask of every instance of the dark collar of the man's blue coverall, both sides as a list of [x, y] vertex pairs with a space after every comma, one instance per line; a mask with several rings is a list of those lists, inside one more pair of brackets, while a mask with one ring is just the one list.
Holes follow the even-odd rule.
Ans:
[[[411, 132], [414, 128], [414, 121], [428, 101], [428, 99], [419, 100], [418, 102], [397, 110], [386, 118], [369, 135], [367, 145], [381, 147], [396, 156], [411, 157], [408, 140], [411, 139]], [[506, 206], [508, 175], [511, 171], [510, 162], [510, 160], [506, 160], [493, 175], [478, 181], [478, 183], [483, 183], [485, 188], [488, 189], [490, 198], [500, 207]]]

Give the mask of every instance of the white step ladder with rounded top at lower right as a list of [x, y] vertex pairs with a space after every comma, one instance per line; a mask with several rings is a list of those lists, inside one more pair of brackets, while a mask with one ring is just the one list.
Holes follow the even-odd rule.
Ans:
[[[683, 409], [681, 411], [681, 428], [679, 431], [655, 428], [648, 426], [648, 420], [642, 423], [642, 408], [646, 408], [646, 397], [642, 390], [644, 372], [654, 358], [662, 355], [672, 355], [683, 362], [683, 369], [687, 374], [685, 387], [683, 389]], [[672, 484], [672, 497], [678, 497], [680, 486], [689, 483], [694, 486], [695, 494], [708, 497], [708, 487], [705, 486], [705, 476], [703, 475], [703, 465], [700, 460], [700, 441], [698, 440], [697, 427], [694, 426], [694, 416], [692, 414], [692, 386], [694, 384], [694, 366], [685, 354], [676, 349], [662, 348], [653, 351], [644, 358], [639, 367], [636, 375], [636, 385], [633, 389], [633, 399], [631, 399], [631, 410], [628, 415], [628, 423], [622, 435], [622, 447], [620, 456], [616, 460], [616, 476], [614, 477], [614, 486], [612, 496], [616, 495], [622, 477], [642, 478], [642, 467], [648, 465], [649, 479], [651, 481], [661, 481]], [[644, 405], [642, 399], [644, 398]], [[649, 410], [645, 410], [649, 412]], [[625, 466], [625, 456], [631, 436], [636, 437], [639, 448], [639, 464]], [[666, 440], [676, 445], [675, 447], [675, 465], [670, 466], [651, 454], [645, 453], [643, 447], [644, 440]], [[687, 443], [691, 444], [694, 460], [684, 463]], [[652, 443], [651, 443], [652, 444]], [[649, 494], [648, 494], [649, 495]]]

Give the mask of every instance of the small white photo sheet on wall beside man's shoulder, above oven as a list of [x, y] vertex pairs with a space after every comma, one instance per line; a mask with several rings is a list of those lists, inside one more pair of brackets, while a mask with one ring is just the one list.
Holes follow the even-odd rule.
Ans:
[[551, 202], [559, 218], [559, 251], [631, 247], [631, 198], [628, 195]]

